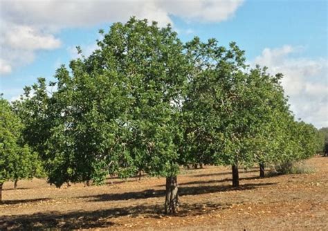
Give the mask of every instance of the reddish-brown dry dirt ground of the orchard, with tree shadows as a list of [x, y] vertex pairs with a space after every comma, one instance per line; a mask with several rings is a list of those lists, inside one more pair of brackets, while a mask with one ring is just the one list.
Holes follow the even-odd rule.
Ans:
[[239, 169], [233, 189], [230, 168], [183, 169], [181, 206], [165, 216], [165, 178], [109, 178], [106, 185], [57, 189], [46, 181], [4, 184], [0, 230], [328, 230], [328, 158], [307, 160], [313, 174], [258, 178]]

